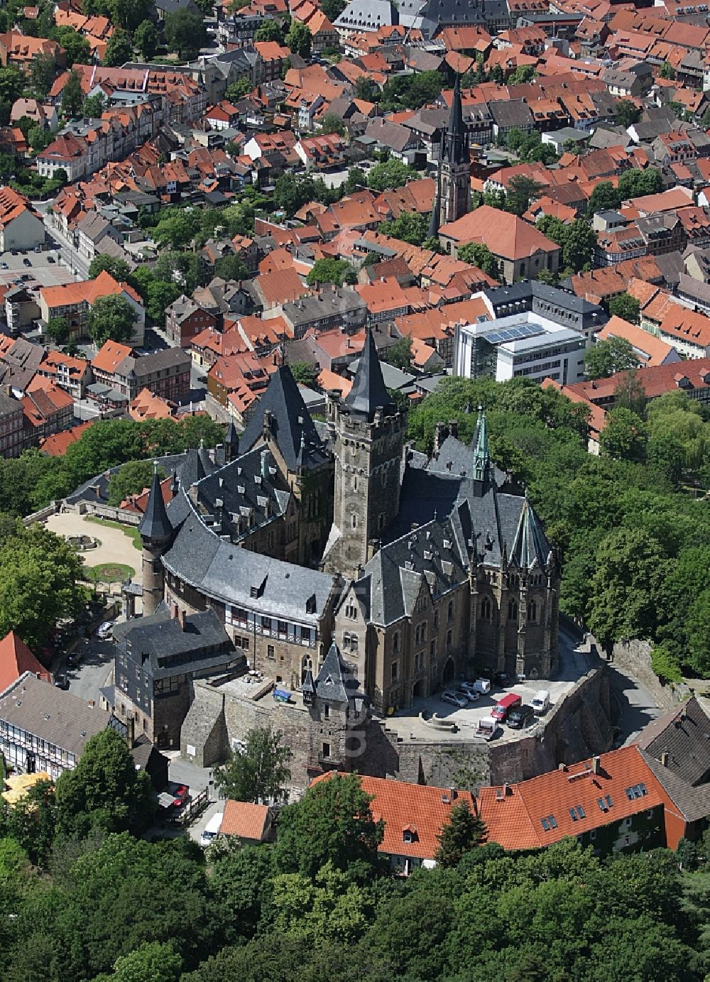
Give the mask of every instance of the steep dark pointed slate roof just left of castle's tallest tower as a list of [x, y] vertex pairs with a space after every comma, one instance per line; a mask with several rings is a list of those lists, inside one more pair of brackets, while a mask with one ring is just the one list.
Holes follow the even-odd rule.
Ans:
[[[267, 409], [272, 415], [276, 443], [290, 470], [297, 470], [300, 463], [316, 466], [325, 461], [325, 448], [287, 365], [277, 368], [269, 379], [266, 392], [242, 435], [240, 446], [243, 452], [251, 450], [261, 436]], [[304, 453], [301, 453], [301, 442]]]

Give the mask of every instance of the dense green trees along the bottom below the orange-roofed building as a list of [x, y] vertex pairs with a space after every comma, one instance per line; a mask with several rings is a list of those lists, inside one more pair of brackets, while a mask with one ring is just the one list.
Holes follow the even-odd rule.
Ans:
[[[6, 982], [701, 980], [710, 844], [596, 857], [447, 837], [409, 879], [356, 775], [306, 791], [273, 845], [139, 838], [144, 773], [113, 731], [0, 813]], [[451, 825], [454, 822], [452, 820]]]

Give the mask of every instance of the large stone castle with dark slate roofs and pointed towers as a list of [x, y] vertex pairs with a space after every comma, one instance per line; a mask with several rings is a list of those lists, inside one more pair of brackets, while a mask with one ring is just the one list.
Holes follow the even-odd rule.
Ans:
[[250, 667], [304, 704], [314, 682], [325, 687], [333, 642], [382, 715], [485, 670], [550, 678], [558, 567], [491, 462], [485, 413], [471, 446], [439, 426], [431, 459], [406, 427], [369, 333], [325, 422], [279, 368], [241, 437], [230, 425], [168, 495], [153, 477], [139, 526], [144, 616], [163, 601], [213, 610]]

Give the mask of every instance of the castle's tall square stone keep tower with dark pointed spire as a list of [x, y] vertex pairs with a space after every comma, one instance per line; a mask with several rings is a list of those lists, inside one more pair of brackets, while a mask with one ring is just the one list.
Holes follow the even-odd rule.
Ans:
[[[356, 578], [383, 531], [398, 515], [406, 415], [390, 398], [372, 334], [367, 331], [353, 388], [328, 401], [335, 454], [333, 528], [323, 568]], [[368, 551], [369, 549], [369, 551]]]

